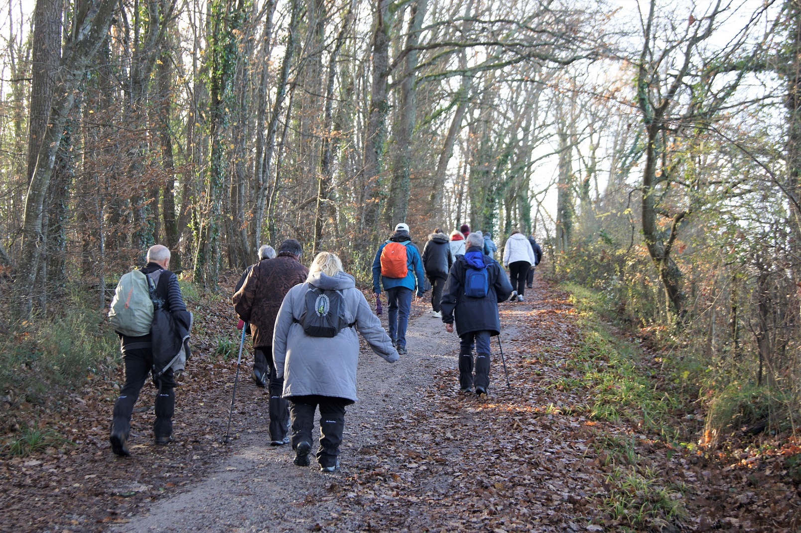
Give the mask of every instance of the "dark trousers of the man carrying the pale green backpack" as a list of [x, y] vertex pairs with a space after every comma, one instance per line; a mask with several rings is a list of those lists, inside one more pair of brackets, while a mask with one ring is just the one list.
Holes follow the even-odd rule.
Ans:
[[[127, 435], [131, 432], [134, 405], [153, 365], [153, 352], [150, 348], [126, 349], [123, 351], [123, 362], [125, 385], [114, 404], [111, 423], [115, 430]], [[172, 415], [175, 414], [175, 376], [172, 369], [168, 369], [153, 385], [159, 389], [155, 397], [153, 434], [155, 438], [166, 438], [172, 434]]]

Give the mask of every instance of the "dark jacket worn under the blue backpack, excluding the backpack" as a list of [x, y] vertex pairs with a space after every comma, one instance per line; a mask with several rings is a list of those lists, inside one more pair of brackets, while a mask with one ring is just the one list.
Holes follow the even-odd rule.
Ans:
[[[473, 246], [468, 252], [481, 252], [481, 247]], [[483, 298], [471, 298], [465, 295], [465, 256], [456, 256], [450, 269], [448, 281], [442, 292], [442, 321], [452, 324], [456, 321], [456, 332], [461, 337], [474, 331], [489, 331], [491, 335], [501, 333], [501, 319], [498, 317], [498, 303], [509, 299], [512, 285], [506, 277], [504, 269], [497, 260], [485, 255], [489, 290]]]

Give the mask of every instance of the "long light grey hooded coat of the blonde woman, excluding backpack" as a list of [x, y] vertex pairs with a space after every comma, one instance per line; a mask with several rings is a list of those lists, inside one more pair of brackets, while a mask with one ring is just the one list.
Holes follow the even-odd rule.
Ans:
[[[306, 292], [309, 285], [319, 289], [338, 290], [345, 302], [345, 316], [355, 327], [343, 328], [336, 337], [309, 337], [297, 321], [306, 311]], [[398, 360], [387, 332], [372, 313], [364, 294], [356, 289], [350, 274], [336, 276], [315, 273], [306, 283], [289, 289], [276, 317], [272, 337], [272, 357], [278, 377], [284, 378], [284, 398], [320, 394], [346, 398], [356, 402], [356, 365], [359, 362], [361, 333], [372, 351], [390, 363]]]

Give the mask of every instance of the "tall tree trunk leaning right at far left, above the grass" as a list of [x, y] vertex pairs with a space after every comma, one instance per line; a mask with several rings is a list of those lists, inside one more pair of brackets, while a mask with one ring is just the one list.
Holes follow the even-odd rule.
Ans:
[[64, 124], [72, 109], [78, 83], [106, 38], [117, 3], [116, 0], [86, 2], [84, 9], [74, 13], [73, 30], [66, 39], [50, 115], [38, 147], [36, 167], [26, 196], [22, 251], [15, 283], [22, 318], [30, 317], [33, 311], [34, 287], [42, 253], [42, 207], [53, 176]]

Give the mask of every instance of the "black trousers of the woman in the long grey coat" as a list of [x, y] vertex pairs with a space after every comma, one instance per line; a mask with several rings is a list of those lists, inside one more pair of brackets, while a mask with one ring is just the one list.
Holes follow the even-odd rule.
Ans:
[[317, 462], [320, 466], [336, 466], [345, 429], [345, 406], [353, 402], [332, 396], [292, 396], [289, 398], [289, 415], [292, 418], [292, 450], [300, 442], [312, 443], [314, 411], [320, 407], [320, 448]]

